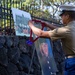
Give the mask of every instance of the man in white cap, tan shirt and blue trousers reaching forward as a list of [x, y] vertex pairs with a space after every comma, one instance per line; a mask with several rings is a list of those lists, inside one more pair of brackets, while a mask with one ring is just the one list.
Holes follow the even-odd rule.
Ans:
[[54, 30], [43, 31], [36, 28], [32, 21], [29, 21], [29, 26], [37, 36], [51, 38], [51, 40], [61, 39], [66, 57], [64, 75], [75, 75], [75, 6], [61, 5], [60, 9], [62, 9], [60, 16], [63, 27], [49, 25]]

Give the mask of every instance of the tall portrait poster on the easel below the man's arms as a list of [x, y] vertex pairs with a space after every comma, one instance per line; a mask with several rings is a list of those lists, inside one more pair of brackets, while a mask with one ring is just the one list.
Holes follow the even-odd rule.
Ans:
[[[41, 28], [41, 24], [35, 24], [35, 26]], [[46, 28], [44, 28], [44, 30], [46, 30]], [[34, 35], [34, 37], [36, 36]], [[42, 69], [42, 75], [56, 75], [58, 69], [53, 57], [50, 39], [39, 38], [35, 42], [35, 47]]]

